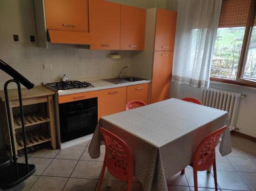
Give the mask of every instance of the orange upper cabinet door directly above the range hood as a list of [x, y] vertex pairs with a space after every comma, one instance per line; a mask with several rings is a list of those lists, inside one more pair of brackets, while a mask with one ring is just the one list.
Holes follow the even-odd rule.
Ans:
[[88, 0], [45, 0], [47, 29], [89, 33]]

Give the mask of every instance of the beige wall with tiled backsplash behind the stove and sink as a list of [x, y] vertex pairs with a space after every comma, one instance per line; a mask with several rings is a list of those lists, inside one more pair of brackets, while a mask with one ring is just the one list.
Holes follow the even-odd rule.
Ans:
[[[1, 0], [0, 23], [0, 59], [35, 85], [59, 81], [62, 74], [70, 79], [112, 78], [123, 66], [131, 66], [131, 51], [90, 51], [66, 44], [37, 47], [37, 42], [30, 42], [30, 35], [36, 36], [33, 0]], [[19, 41], [13, 41], [13, 34], [19, 35]], [[122, 58], [112, 60], [110, 53], [119, 53]], [[44, 70], [44, 64], [52, 64], [53, 69]], [[125, 72], [130, 74], [130, 70]], [[8, 79], [0, 71], [0, 90]]]

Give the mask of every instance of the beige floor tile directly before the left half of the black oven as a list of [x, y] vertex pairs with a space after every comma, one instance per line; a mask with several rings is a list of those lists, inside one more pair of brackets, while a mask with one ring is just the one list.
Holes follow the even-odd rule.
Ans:
[[61, 149], [55, 158], [79, 160], [84, 149], [84, 147], [69, 147], [66, 149]]

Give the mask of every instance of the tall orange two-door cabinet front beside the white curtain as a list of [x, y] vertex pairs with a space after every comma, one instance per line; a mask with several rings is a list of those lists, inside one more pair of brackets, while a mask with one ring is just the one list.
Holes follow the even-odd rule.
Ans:
[[177, 12], [157, 9], [151, 103], [169, 99]]

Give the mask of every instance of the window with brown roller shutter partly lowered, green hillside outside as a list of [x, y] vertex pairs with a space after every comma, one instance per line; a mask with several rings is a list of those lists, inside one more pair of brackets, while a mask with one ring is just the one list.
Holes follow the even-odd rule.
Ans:
[[256, 86], [256, 0], [223, 0], [210, 77]]

